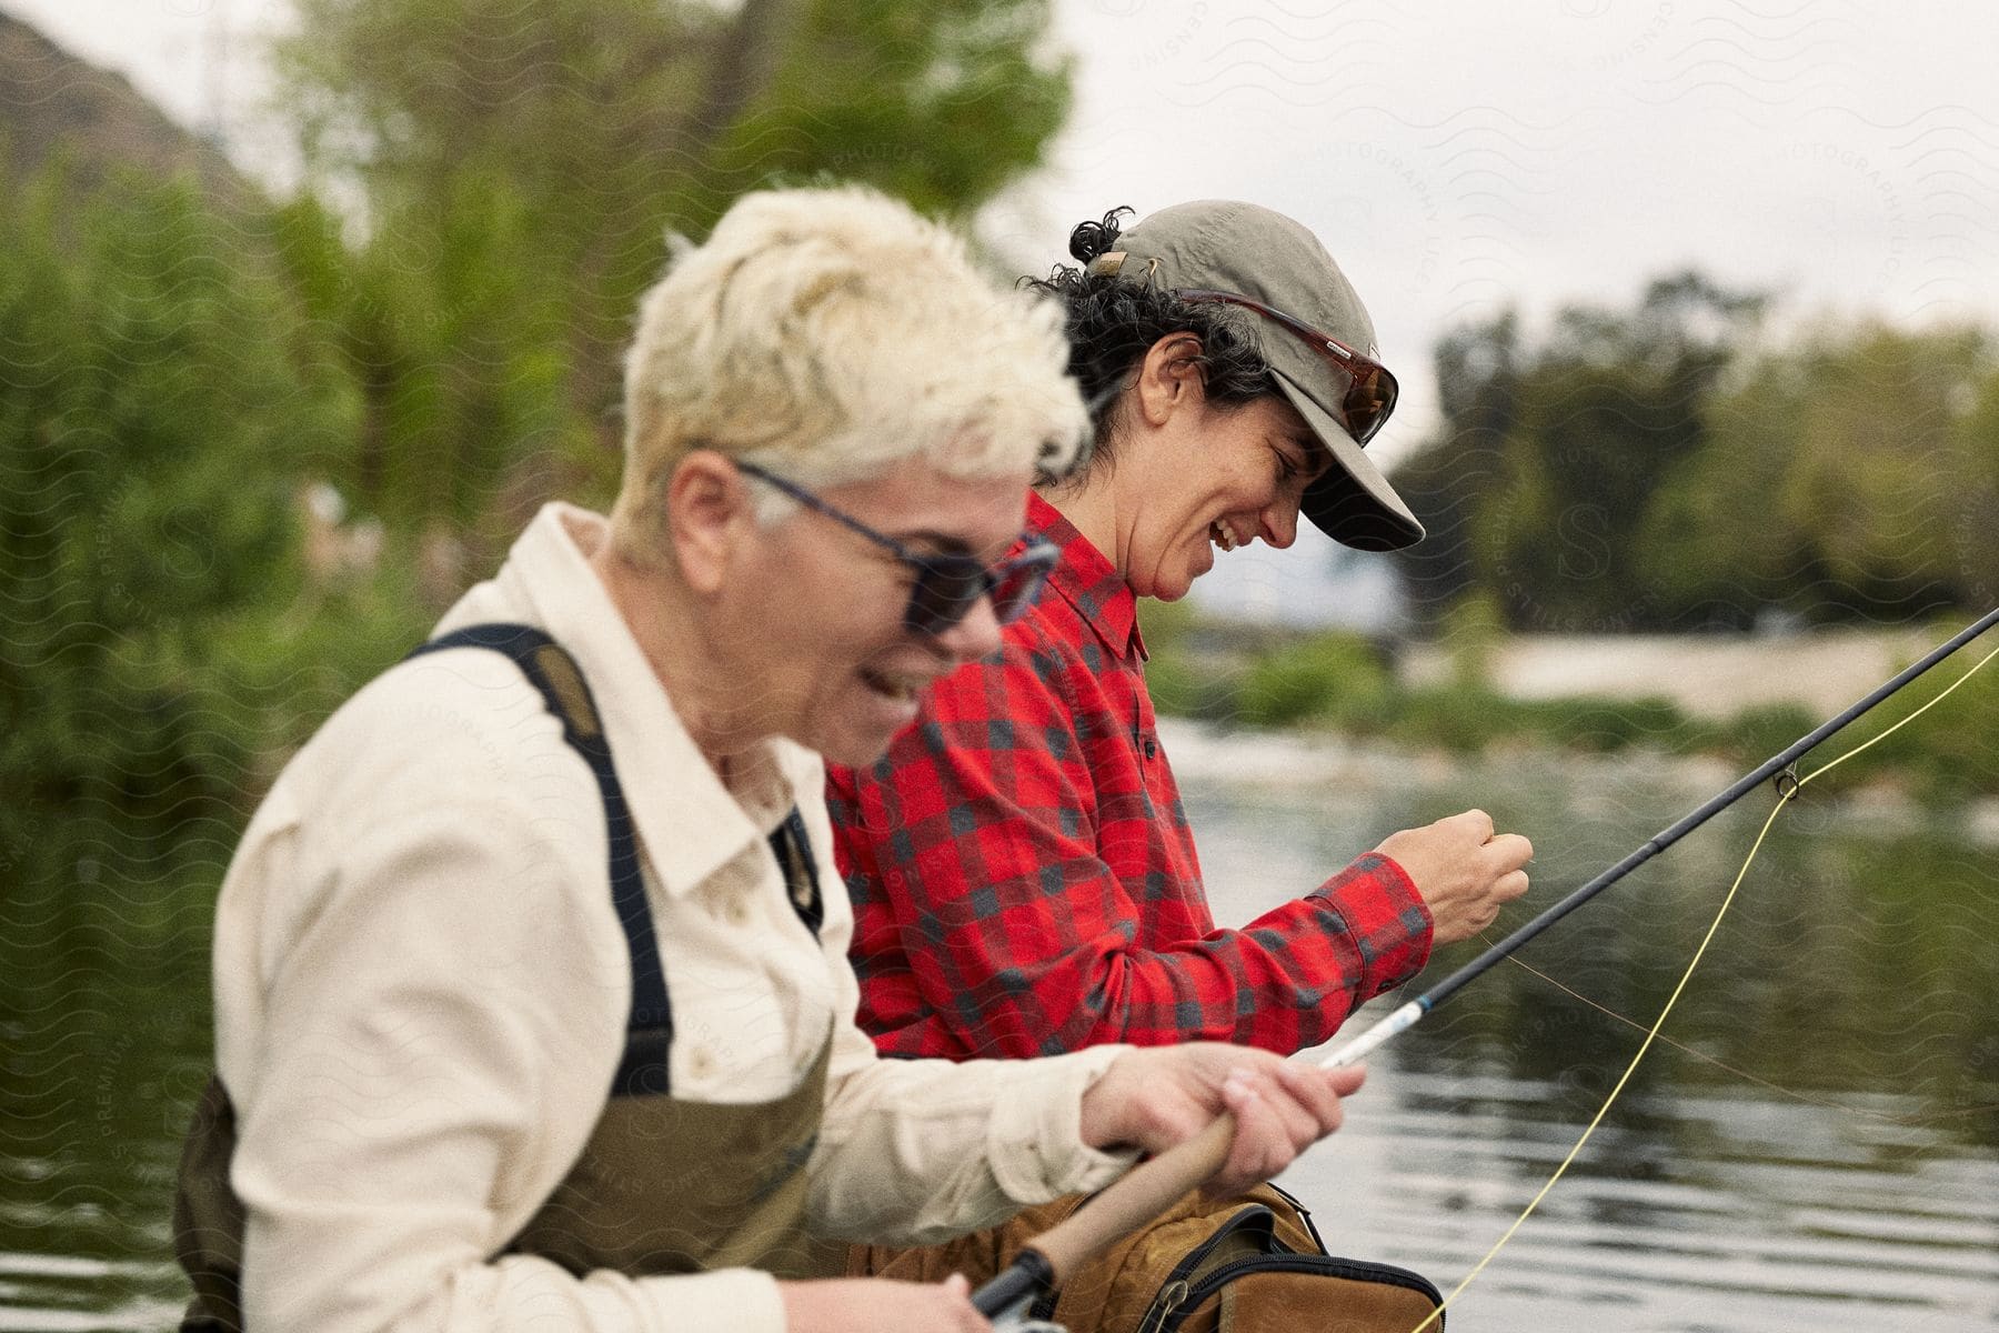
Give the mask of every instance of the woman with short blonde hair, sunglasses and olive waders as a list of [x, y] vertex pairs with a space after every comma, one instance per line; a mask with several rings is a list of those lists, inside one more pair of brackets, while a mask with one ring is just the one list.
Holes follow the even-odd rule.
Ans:
[[188, 1329], [978, 1329], [812, 1281], [1095, 1189], [1223, 1109], [1223, 1187], [1357, 1077], [1227, 1045], [884, 1061], [820, 753], [992, 652], [1087, 418], [1059, 314], [858, 190], [752, 196], [646, 296], [610, 518], [552, 504], [284, 769], [216, 913]]

